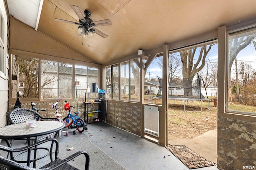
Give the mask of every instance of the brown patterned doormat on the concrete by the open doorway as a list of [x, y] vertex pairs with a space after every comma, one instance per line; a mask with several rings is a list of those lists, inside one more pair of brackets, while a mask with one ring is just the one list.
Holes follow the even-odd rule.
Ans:
[[210, 161], [206, 160], [199, 154], [188, 149], [185, 145], [169, 145], [166, 147], [174, 156], [176, 156], [189, 169], [202, 168], [205, 166], [213, 166]]

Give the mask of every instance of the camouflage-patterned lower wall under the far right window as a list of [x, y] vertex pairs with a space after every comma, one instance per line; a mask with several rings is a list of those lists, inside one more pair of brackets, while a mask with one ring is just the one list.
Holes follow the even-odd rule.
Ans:
[[256, 122], [218, 117], [218, 168], [256, 166]]

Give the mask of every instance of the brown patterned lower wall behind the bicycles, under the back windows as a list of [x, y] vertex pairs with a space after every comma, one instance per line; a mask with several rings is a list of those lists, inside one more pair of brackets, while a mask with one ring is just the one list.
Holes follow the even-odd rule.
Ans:
[[[51, 107], [52, 104], [54, 104], [55, 102], [52, 102], [52, 101], [51, 102], [50, 101], [43, 101], [43, 102], [42, 101], [31, 101], [31, 102], [36, 103], [35, 107], [37, 109], [46, 110], [46, 111], [38, 111], [38, 113], [40, 113], [40, 115], [42, 115], [43, 117], [54, 117], [54, 115], [56, 114], [56, 110]], [[31, 102], [22, 102], [21, 101], [21, 107], [32, 109]], [[75, 107], [75, 108], [71, 109], [72, 113], [74, 113], [74, 111], [77, 111], [76, 100], [67, 100], [67, 102], [70, 104], [70, 106]], [[65, 105], [65, 100], [61, 100], [60, 102], [58, 102], [57, 108], [58, 108], [58, 113], [62, 114], [61, 118], [64, 118], [68, 115], [68, 111], [66, 111], [64, 109], [64, 105]], [[9, 111], [11, 111], [14, 106], [15, 106], [15, 102], [14, 103], [9, 103]], [[84, 99], [83, 100], [78, 100], [78, 107], [79, 107], [79, 111], [81, 112], [80, 117], [82, 119], [84, 119]]]

